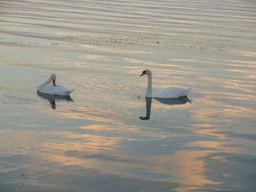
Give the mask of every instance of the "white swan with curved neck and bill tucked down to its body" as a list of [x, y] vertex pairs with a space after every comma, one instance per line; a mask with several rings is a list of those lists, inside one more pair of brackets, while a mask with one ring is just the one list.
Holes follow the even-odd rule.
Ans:
[[[46, 93], [50, 95], [59, 95], [59, 96], [69, 96], [69, 94], [74, 90], [68, 90], [66, 87], [55, 84], [56, 74], [52, 73], [50, 78], [43, 84], [40, 84], [37, 87], [37, 92]], [[50, 84], [50, 83], [53, 84]]]

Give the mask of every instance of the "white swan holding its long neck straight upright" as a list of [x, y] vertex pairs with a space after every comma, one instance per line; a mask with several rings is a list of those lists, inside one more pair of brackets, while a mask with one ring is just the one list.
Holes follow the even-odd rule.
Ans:
[[142, 75], [147, 75], [146, 97], [179, 98], [181, 96], [186, 96], [187, 93], [192, 89], [192, 88], [183, 89], [183, 88], [176, 88], [176, 87], [168, 87], [152, 95], [152, 73], [150, 70], [146, 69], [142, 72], [140, 76]]

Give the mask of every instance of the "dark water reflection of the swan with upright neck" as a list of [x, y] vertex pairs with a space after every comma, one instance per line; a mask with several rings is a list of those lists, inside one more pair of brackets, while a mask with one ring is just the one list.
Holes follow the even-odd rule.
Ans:
[[[160, 103], [165, 105], [182, 105], [186, 102], [191, 103], [191, 101], [187, 98], [187, 96], [182, 96], [179, 98], [155, 98]], [[141, 120], [149, 120], [150, 119], [150, 111], [151, 111], [152, 97], [146, 97], [146, 117], [140, 117]]]

